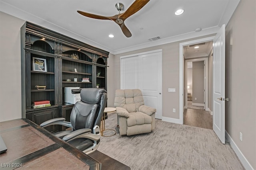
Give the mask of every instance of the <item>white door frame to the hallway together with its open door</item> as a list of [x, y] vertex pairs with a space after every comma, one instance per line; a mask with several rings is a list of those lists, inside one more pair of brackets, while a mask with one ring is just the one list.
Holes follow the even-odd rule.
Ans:
[[[184, 78], [184, 55], [183, 47], [186, 45], [213, 41], [213, 56], [212, 58], [212, 92], [209, 92], [207, 111], [212, 112], [213, 115], [213, 131], [216, 133], [220, 141], [225, 144], [225, 25], [223, 24], [218, 30], [217, 34], [212, 37], [205, 37], [192, 41], [180, 43], [180, 111], [177, 123], [183, 124], [184, 102], [185, 102], [185, 78]], [[209, 79], [210, 80], [210, 79]], [[209, 88], [209, 87], [208, 87]]]

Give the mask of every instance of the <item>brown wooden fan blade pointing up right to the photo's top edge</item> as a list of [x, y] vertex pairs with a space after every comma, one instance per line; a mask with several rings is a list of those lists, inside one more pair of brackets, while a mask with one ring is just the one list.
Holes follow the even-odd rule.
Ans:
[[[132, 14], [138, 12], [143, 6], [145, 6], [150, 0], [135, 0], [133, 4], [122, 14], [120, 14], [120, 18], [128, 18]], [[124, 20], [125, 20], [124, 19]]]

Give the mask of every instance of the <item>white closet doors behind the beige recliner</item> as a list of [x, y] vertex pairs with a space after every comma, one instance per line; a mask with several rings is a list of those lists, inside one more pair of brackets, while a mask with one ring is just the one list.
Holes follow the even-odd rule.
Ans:
[[162, 119], [162, 50], [120, 58], [121, 89], [140, 89], [145, 105], [156, 108], [156, 119]]

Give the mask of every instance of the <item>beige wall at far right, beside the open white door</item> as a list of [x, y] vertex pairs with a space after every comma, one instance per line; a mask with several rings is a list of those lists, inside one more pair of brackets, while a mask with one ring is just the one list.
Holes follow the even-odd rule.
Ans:
[[226, 25], [226, 97], [226, 131], [256, 169], [255, 0], [242, 0]]

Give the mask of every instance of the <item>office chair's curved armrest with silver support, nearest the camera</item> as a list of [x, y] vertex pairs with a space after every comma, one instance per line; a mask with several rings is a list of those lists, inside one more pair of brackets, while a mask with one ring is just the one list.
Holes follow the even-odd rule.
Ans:
[[93, 128], [93, 133], [92, 133], [92, 129], [89, 129], [89, 128], [78, 129], [78, 130], [73, 131], [70, 134], [64, 136], [62, 138], [62, 140], [68, 142], [68, 141], [72, 141], [73, 139], [77, 139], [77, 138], [86, 138], [86, 139], [91, 139], [93, 141], [98, 141], [101, 137], [98, 129], [100, 129], [98, 125], [96, 125]]

